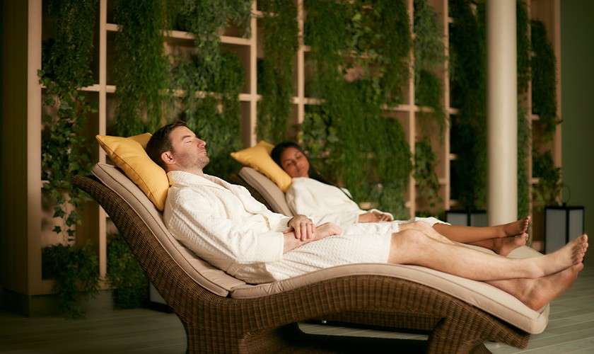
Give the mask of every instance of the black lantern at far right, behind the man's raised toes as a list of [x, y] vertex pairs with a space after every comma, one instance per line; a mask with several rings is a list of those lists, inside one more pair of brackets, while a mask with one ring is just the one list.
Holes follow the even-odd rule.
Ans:
[[544, 253], [557, 251], [584, 230], [584, 207], [544, 207]]

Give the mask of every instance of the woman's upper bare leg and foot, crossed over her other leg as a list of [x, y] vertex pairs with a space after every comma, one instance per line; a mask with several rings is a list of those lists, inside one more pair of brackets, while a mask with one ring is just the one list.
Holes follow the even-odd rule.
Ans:
[[528, 230], [530, 216], [519, 219], [509, 224], [491, 227], [468, 227], [459, 225], [434, 224], [433, 229], [450, 240], [470, 244], [476, 241], [509, 237], [524, 234]]

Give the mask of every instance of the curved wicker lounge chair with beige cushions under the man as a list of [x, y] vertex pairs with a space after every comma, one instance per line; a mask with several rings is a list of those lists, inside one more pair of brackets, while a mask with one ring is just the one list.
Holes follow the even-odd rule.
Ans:
[[[75, 185], [105, 209], [180, 318], [188, 353], [404, 348], [397, 340], [305, 334], [296, 323], [308, 319], [426, 331], [429, 341], [421, 350], [429, 353], [488, 353], [484, 341], [525, 348], [529, 333], [547, 325], [548, 307], [534, 312], [490, 285], [411, 265], [344, 265], [271, 284], [245, 284], [173, 239], [148, 198], [115, 167], [98, 164], [93, 173], [96, 177], [74, 177]], [[464, 294], [475, 285], [479, 291]]]

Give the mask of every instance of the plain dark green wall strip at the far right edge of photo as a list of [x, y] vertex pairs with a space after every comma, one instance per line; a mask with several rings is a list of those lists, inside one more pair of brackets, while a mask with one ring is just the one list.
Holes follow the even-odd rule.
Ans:
[[[563, 178], [594, 235], [594, 1], [561, 1]], [[564, 195], [567, 198], [567, 195]]]

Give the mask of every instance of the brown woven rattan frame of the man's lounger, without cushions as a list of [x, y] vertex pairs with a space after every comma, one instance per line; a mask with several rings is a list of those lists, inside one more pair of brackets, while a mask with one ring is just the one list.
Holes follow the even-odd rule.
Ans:
[[[187, 333], [188, 353], [344, 353], [401, 350], [402, 341], [301, 332], [296, 323], [336, 319], [429, 331], [428, 353], [489, 353], [484, 341], [525, 348], [529, 334], [431, 287], [380, 275], [334, 278], [255, 299], [221, 297], [192, 280], [139, 215], [95, 178], [74, 184], [103, 207]], [[332, 337], [332, 338], [330, 338]]]

